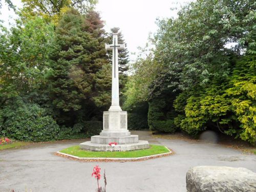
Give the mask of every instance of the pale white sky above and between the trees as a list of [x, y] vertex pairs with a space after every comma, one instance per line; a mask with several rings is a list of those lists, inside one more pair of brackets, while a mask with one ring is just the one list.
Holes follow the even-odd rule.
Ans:
[[[177, 9], [191, 0], [98, 0], [96, 11], [105, 22], [104, 29], [110, 32], [113, 27], [119, 27], [127, 49], [130, 52], [130, 59], [136, 58], [138, 47], [144, 47], [148, 34], [157, 32], [157, 18], [169, 18], [177, 16]], [[2, 0], [3, 2], [3, 0]], [[12, 0], [18, 8], [22, 7], [21, 0]], [[17, 18], [12, 10], [3, 2], [0, 19], [4, 20], [6, 27], [13, 24]]]

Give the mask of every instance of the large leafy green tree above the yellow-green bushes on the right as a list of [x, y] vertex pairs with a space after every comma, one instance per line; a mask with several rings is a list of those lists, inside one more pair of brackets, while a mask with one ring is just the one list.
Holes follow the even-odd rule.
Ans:
[[[227, 77], [230, 51], [239, 53], [248, 44], [254, 6], [249, 0], [199, 0], [182, 8], [177, 19], [162, 20], [155, 54], [177, 79], [170, 86], [185, 90]], [[230, 50], [225, 46], [230, 42], [240, 44]]]

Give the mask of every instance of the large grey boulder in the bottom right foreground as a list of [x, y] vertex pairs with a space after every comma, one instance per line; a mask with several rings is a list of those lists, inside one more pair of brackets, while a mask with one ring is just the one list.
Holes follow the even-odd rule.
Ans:
[[256, 174], [246, 168], [196, 166], [186, 174], [188, 192], [256, 192]]

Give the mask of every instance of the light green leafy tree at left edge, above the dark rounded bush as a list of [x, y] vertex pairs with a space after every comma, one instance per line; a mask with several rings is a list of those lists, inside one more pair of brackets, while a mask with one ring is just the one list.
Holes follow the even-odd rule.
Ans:
[[[53, 26], [34, 17], [0, 33], [0, 97], [30, 95], [45, 83]], [[30, 98], [32, 99], [32, 98]]]

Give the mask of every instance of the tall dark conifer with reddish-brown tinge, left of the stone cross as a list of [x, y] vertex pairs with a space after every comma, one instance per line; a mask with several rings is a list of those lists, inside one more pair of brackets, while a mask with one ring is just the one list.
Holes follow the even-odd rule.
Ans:
[[91, 14], [81, 16], [71, 9], [55, 32], [49, 88], [58, 122], [66, 125], [90, 120], [97, 111], [93, 99], [99, 94], [96, 73], [108, 63], [102, 22], [92, 28]]

